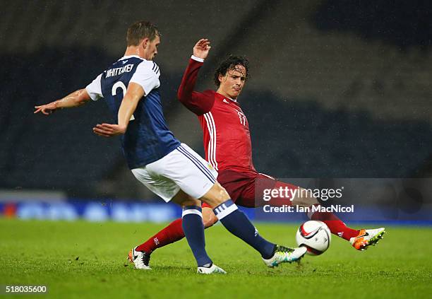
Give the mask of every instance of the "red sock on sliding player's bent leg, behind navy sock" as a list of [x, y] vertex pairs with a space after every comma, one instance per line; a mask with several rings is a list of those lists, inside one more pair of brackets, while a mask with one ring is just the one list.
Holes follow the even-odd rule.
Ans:
[[179, 218], [169, 223], [166, 228], [160, 230], [160, 232], [152, 236], [152, 238], [139, 245], [136, 250], [152, 253], [152, 251], [157, 248], [164, 247], [165, 245], [174, 243], [183, 238], [184, 233], [181, 227], [181, 218]]

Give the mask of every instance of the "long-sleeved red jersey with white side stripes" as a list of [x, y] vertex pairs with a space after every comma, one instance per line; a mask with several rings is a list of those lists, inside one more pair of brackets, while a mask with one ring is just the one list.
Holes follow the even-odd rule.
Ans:
[[203, 62], [189, 60], [177, 96], [198, 115], [203, 129], [205, 159], [218, 171], [253, 172], [251, 134], [246, 115], [238, 102], [213, 90], [193, 90]]

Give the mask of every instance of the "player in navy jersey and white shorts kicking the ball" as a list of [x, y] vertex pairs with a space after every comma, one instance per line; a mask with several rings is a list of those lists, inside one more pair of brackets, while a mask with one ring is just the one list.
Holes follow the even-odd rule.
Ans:
[[[164, 201], [183, 206], [182, 230], [188, 240], [198, 273], [226, 273], [205, 252], [201, 201], [212, 207], [227, 230], [260, 252], [267, 266], [299, 260], [306, 248], [275, 245], [262, 238], [248, 218], [216, 182], [217, 172], [191, 148], [180, 143], [167, 128], [160, 100], [160, 69], [152, 59], [160, 44], [160, 31], [140, 21], [128, 28], [124, 57], [95, 78], [86, 88], [35, 106], [35, 113], [49, 115], [57, 109], [104, 99], [116, 124], [97, 124], [95, 134], [121, 136], [121, 146], [133, 175]], [[137, 269], [150, 269], [150, 255], [134, 247], [128, 254]]]

